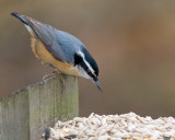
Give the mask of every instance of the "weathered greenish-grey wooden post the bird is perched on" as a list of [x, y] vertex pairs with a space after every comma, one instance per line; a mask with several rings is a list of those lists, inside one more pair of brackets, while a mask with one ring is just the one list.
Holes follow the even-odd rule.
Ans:
[[0, 100], [0, 140], [39, 140], [56, 120], [79, 115], [78, 78], [62, 75]]

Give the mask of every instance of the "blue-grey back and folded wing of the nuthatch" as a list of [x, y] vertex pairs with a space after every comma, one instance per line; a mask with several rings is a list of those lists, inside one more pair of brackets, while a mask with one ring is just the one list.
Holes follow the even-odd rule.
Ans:
[[74, 54], [78, 52], [81, 47], [84, 47], [78, 38], [31, 18], [26, 19], [36, 36], [44, 43], [48, 51], [52, 54], [56, 59], [69, 63], [74, 62]]

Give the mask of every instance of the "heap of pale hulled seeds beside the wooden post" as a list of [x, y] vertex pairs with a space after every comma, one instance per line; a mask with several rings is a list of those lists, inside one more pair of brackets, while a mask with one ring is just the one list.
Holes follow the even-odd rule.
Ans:
[[135, 113], [102, 116], [92, 113], [88, 118], [75, 117], [66, 122], [56, 122], [54, 128], [49, 128], [48, 140], [164, 139], [174, 136], [173, 117], [152, 119]]

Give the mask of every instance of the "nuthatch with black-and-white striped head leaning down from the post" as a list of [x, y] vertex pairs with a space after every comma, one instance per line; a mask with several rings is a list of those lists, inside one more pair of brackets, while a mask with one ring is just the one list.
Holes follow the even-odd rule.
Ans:
[[18, 12], [11, 15], [30, 32], [31, 47], [36, 58], [61, 73], [89, 79], [102, 91], [98, 66], [80, 39]]

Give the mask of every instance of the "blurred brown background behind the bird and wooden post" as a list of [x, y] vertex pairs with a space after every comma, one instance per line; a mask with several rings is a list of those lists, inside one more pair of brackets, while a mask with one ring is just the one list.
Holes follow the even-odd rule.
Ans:
[[80, 78], [80, 116], [175, 117], [175, 1], [0, 0], [0, 96], [52, 71], [13, 11], [73, 34], [97, 61], [104, 92]]

